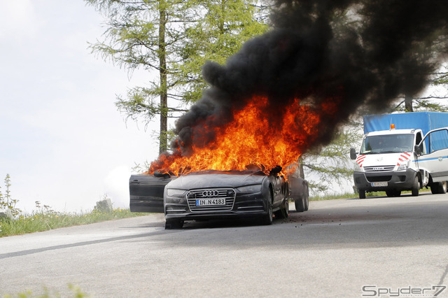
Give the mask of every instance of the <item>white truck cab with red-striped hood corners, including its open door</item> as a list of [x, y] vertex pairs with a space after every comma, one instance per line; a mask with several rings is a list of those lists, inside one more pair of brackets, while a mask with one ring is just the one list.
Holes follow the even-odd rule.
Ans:
[[423, 136], [421, 129], [368, 132], [355, 160], [353, 181], [360, 199], [365, 192], [385, 191], [398, 197], [403, 190], [413, 196], [430, 187], [433, 194], [447, 192], [448, 127], [433, 129]]

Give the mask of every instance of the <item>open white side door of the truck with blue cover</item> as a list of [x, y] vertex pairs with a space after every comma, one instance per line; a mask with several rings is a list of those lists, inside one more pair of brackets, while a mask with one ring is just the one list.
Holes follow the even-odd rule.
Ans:
[[419, 148], [419, 169], [428, 171], [434, 182], [448, 180], [448, 127], [428, 132]]

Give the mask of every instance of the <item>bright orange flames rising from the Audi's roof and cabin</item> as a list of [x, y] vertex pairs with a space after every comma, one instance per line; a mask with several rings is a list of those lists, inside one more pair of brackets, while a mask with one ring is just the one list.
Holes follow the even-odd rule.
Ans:
[[321, 118], [336, 112], [337, 104], [332, 101], [312, 107], [293, 99], [287, 111], [279, 111], [273, 117], [267, 99], [253, 97], [241, 111], [234, 113], [232, 122], [214, 128], [217, 137], [213, 143], [202, 148], [193, 146], [190, 156], [182, 155], [180, 150], [160, 155], [148, 173], [171, 172], [179, 176], [208, 169], [244, 171], [251, 165], [265, 173], [277, 165], [284, 169], [297, 162], [315, 141]]

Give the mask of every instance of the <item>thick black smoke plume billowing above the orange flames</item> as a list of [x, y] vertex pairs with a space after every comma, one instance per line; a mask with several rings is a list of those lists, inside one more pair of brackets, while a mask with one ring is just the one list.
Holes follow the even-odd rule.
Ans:
[[[214, 127], [258, 94], [269, 99], [276, 125], [293, 98], [318, 106], [336, 98], [339, 113], [323, 119], [314, 146], [360, 106], [381, 112], [397, 97], [428, 84], [447, 52], [448, 1], [318, 0], [274, 2], [272, 30], [246, 42], [224, 66], [203, 67], [211, 85], [176, 122], [174, 149], [214, 140]], [[204, 128], [206, 127], [206, 128]]]

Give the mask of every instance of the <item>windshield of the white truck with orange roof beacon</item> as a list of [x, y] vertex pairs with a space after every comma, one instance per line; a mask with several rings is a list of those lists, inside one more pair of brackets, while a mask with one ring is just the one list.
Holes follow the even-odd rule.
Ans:
[[414, 134], [367, 136], [361, 146], [360, 154], [409, 152], [413, 148]]

